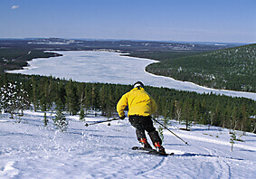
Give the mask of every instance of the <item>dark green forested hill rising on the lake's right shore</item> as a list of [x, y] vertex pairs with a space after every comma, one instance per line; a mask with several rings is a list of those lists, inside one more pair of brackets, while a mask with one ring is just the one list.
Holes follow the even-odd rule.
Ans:
[[147, 71], [156, 75], [214, 89], [256, 92], [256, 44], [214, 52], [155, 53], [154, 59], [160, 62], [147, 66]]

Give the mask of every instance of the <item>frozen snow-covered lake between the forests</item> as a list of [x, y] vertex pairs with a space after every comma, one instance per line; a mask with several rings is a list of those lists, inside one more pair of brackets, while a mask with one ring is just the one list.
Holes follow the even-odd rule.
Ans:
[[57, 52], [63, 56], [29, 61], [25, 70], [9, 71], [23, 74], [40, 74], [44, 76], [72, 79], [83, 82], [103, 82], [133, 84], [137, 80], [146, 85], [167, 87], [170, 89], [195, 91], [198, 93], [215, 93], [232, 97], [244, 97], [256, 100], [256, 93], [209, 89], [192, 82], [174, 80], [156, 76], [145, 71], [145, 67], [157, 61], [120, 56], [116, 52], [67, 51]]

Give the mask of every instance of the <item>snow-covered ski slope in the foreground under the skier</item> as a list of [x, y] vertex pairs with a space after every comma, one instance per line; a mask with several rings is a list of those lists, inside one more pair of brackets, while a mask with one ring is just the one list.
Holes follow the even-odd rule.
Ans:
[[[47, 114], [50, 118], [50, 114]], [[0, 116], [0, 178], [255, 178], [256, 135], [247, 133], [231, 152], [228, 129], [169, 127], [185, 141], [165, 131], [164, 146], [173, 156], [147, 155], [137, 146], [128, 119], [84, 126], [68, 117], [69, 128], [59, 132], [43, 127], [43, 113], [25, 111], [21, 123]], [[88, 116], [87, 123], [107, 118]], [[51, 120], [52, 121], [52, 120]], [[240, 133], [238, 132], [238, 135]], [[238, 136], [237, 135], [237, 136]]]

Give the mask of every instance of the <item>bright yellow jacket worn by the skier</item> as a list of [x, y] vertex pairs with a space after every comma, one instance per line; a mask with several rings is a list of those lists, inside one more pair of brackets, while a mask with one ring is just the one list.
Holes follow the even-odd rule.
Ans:
[[128, 106], [128, 117], [137, 115], [147, 117], [156, 112], [156, 101], [143, 88], [131, 89], [119, 99], [117, 111], [119, 117], [125, 115], [124, 109]]

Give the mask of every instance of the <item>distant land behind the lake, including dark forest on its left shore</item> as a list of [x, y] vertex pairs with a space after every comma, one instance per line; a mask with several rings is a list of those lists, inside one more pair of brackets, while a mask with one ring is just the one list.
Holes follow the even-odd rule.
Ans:
[[60, 38], [0, 39], [0, 74], [22, 69], [35, 58], [58, 56], [44, 51], [106, 51], [106, 52], [208, 52], [233, 47], [236, 44], [178, 43], [143, 41], [106, 41]]

